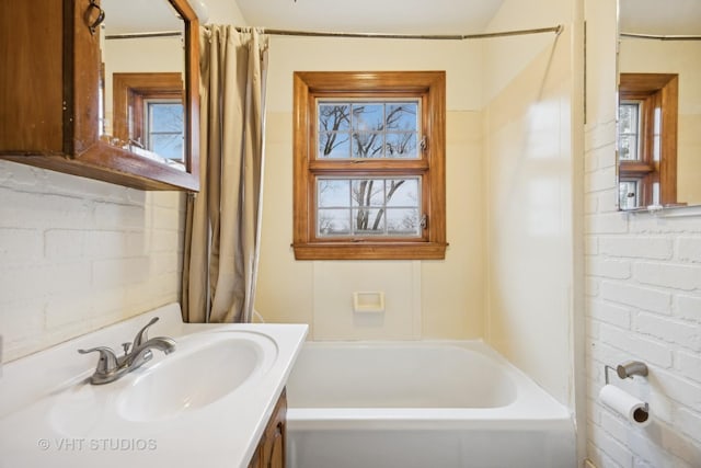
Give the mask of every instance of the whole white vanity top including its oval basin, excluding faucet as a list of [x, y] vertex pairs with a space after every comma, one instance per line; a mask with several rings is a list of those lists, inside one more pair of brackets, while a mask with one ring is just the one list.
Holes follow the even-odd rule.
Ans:
[[[175, 351], [91, 385], [97, 356], [77, 350], [117, 350], [153, 317], [149, 334], [173, 338]], [[172, 304], [5, 363], [0, 467], [245, 468], [306, 334], [303, 324], [183, 323]]]

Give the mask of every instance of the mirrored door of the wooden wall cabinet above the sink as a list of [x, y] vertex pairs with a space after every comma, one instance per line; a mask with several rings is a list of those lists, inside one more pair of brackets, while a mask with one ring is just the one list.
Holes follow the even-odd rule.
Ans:
[[192, 9], [185, 0], [102, 0], [101, 7], [101, 140], [196, 175]]

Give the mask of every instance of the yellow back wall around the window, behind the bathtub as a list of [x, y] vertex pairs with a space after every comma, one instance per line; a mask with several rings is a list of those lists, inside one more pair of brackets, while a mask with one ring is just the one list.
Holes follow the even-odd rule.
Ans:
[[[480, 42], [271, 39], [263, 236], [256, 308], [268, 321], [307, 322], [310, 338], [481, 338], [484, 185]], [[292, 72], [446, 70], [447, 212], [444, 261], [295, 261]], [[382, 316], [352, 311], [358, 290], [386, 293]]]

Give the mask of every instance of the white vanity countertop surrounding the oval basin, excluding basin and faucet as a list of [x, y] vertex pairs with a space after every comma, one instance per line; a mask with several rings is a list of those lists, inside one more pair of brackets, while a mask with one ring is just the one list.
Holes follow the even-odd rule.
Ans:
[[[149, 336], [186, 342], [199, 332], [251, 332], [271, 339], [277, 355], [255, 379], [208, 406], [130, 421], [114, 411], [113, 393], [157, 372], [152, 367], [170, 355], [153, 351], [153, 359], [142, 368], [115, 383], [91, 386], [87, 378], [97, 355], [77, 350], [119, 350], [152, 317], [160, 320]], [[0, 468], [245, 468], [306, 335], [306, 324], [182, 323], [180, 307], [169, 305], [8, 363], [0, 376]]]

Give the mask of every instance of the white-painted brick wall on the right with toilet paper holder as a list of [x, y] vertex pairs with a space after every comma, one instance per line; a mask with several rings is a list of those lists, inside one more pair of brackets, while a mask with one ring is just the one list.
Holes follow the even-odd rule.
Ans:
[[[587, 455], [601, 467], [701, 463], [701, 215], [616, 209], [616, 2], [586, 2]], [[682, 212], [683, 213], [683, 212]], [[598, 401], [604, 365], [639, 359], [617, 385], [651, 404], [636, 427]]]

